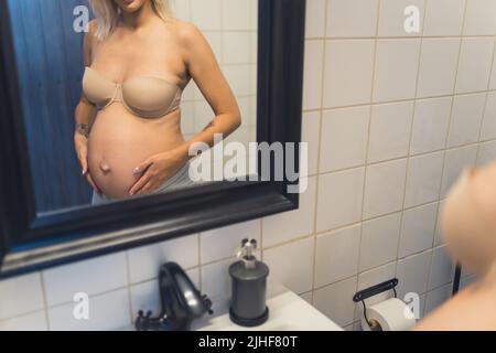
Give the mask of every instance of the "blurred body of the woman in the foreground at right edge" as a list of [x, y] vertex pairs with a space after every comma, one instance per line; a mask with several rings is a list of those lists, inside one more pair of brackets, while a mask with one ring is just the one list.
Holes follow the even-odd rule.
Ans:
[[442, 212], [453, 258], [478, 278], [416, 327], [418, 331], [496, 331], [496, 162], [466, 171]]

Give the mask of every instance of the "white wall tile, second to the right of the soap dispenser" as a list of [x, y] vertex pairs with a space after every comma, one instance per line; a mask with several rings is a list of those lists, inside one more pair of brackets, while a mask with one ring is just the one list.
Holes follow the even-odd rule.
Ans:
[[360, 225], [355, 225], [317, 236], [315, 287], [357, 275], [360, 231]]

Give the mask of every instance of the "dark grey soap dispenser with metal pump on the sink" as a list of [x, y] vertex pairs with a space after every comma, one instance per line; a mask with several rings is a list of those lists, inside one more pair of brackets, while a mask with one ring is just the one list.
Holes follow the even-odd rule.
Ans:
[[231, 278], [231, 302], [229, 317], [242, 327], [257, 327], [269, 319], [266, 304], [269, 268], [254, 255], [256, 239], [242, 239], [238, 261], [229, 266]]

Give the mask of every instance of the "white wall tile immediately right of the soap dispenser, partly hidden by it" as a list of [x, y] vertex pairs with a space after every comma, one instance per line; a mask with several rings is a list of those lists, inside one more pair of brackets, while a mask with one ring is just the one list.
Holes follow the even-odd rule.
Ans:
[[263, 250], [263, 261], [270, 268], [270, 278], [295, 293], [312, 289], [314, 238]]

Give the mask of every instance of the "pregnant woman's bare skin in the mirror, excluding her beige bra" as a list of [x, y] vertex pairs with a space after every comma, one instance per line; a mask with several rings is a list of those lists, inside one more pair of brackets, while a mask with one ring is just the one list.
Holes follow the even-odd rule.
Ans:
[[[120, 200], [155, 191], [191, 159], [192, 143], [213, 146], [215, 133], [227, 137], [239, 127], [240, 113], [209, 44], [194, 25], [164, 22], [150, 0], [116, 2], [122, 19], [109, 38], [99, 42], [95, 23], [89, 26], [85, 66], [115, 83], [153, 76], [184, 88], [194, 79], [215, 113], [208, 127], [186, 142], [181, 110], [143, 119], [120, 103], [97, 111], [83, 95], [74, 137], [83, 173], [96, 192]], [[90, 133], [84, 133], [89, 128]]]

